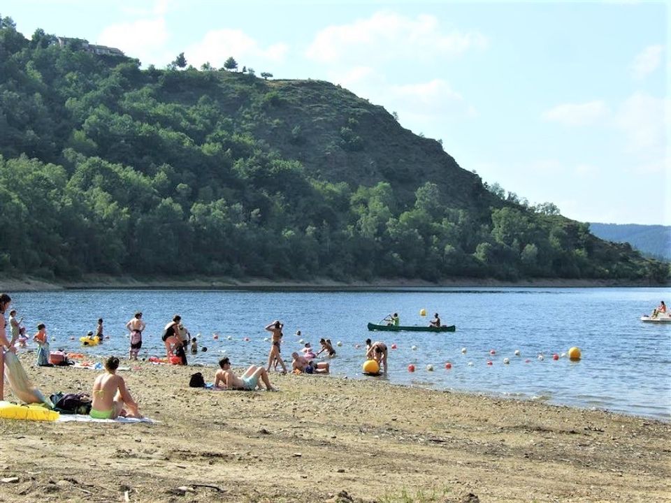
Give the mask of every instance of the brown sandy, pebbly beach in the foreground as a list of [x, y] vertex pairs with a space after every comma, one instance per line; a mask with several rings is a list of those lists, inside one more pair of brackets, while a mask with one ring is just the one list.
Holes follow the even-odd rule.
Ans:
[[[33, 358], [45, 394], [97, 374]], [[0, 501], [671, 502], [670, 423], [379, 379], [206, 391], [189, 377], [213, 367], [122, 365], [157, 423], [0, 420]]]

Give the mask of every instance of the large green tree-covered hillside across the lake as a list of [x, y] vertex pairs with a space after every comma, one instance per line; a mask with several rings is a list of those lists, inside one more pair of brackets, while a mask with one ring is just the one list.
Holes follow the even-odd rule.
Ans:
[[182, 63], [140, 70], [1, 19], [0, 270], [668, 278], [346, 89]]

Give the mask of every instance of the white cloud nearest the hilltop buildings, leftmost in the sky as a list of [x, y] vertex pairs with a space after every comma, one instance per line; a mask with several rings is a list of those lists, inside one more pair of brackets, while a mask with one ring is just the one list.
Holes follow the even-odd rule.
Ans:
[[129, 57], [136, 57], [143, 65], [156, 64], [155, 54], [161, 52], [168, 40], [163, 17], [112, 24], [101, 32], [96, 43], [119, 48]]

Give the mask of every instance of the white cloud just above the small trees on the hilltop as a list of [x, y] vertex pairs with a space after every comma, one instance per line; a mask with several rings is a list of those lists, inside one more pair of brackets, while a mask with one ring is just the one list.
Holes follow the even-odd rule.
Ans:
[[185, 56], [189, 64], [196, 67], [205, 61], [209, 61], [212, 66], [221, 67], [231, 56], [240, 66], [256, 66], [267, 62], [282, 62], [288, 50], [289, 46], [284, 43], [263, 48], [254, 38], [239, 29], [219, 29], [208, 31], [200, 42], [190, 45], [185, 50]]

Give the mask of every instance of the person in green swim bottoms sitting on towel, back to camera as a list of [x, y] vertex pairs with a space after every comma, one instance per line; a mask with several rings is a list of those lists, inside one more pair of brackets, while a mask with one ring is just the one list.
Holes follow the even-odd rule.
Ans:
[[[90, 412], [94, 419], [116, 419], [120, 416], [142, 418], [138, 404], [126, 388], [126, 381], [117, 375], [117, 368], [119, 358], [110, 356], [105, 360], [106, 372], [94, 381]], [[128, 410], [124, 410], [124, 405]]]

